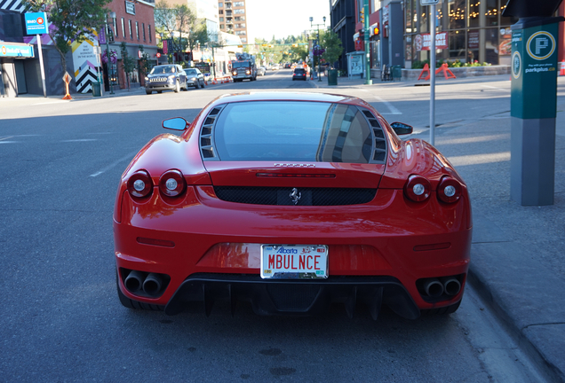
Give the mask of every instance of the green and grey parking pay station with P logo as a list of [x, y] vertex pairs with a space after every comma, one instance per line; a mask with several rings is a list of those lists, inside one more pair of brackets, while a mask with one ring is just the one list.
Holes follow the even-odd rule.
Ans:
[[512, 26], [510, 197], [522, 206], [553, 205], [557, 44], [553, 17], [562, 0], [510, 0]]

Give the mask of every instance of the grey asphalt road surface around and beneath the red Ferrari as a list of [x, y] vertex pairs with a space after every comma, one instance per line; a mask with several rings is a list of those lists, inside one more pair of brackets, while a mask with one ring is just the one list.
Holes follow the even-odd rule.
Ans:
[[[123, 308], [112, 237], [123, 169], [164, 118], [192, 121], [212, 98], [243, 90], [322, 91], [281, 70], [178, 94], [0, 99], [0, 381], [543, 380], [471, 288], [454, 315], [415, 321], [386, 309], [375, 322], [339, 307], [325, 317], [259, 317], [243, 305], [231, 317], [222, 304], [211, 317], [199, 307], [176, 317]], [[331, 91], [426, 130], [429, 88]], [[446, 86], [437, 97], [439, 135], [509, 110], [503, 82]]]

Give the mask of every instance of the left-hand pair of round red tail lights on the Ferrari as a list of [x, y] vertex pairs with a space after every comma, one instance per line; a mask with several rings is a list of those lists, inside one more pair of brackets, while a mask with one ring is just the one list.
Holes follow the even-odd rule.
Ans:
[[[153, 181], [146, 170], [138, 170], [128, 180], [128, 191], [131, 196], [143, 199], [149, 197], [153, 191]], [[159, 191], [166, 197], [179, 197], [187, 190], [187, 182], [182, 173], [177, 169], [167, 170], [159, 178]]]

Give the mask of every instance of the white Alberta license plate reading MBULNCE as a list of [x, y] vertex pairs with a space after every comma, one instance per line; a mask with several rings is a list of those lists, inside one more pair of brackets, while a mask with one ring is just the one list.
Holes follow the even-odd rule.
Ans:
[[317, 279], [328, 277], [328, 246], [261, 245], [261, 277]]

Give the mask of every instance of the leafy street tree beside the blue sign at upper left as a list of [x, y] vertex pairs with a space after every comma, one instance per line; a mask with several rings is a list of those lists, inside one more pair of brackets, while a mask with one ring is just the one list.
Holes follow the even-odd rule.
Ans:
[[63, 71], [67, 71], [67, 53], [72, 42], [82, 43], [92, 31], [104, 26], [111, 0], [22, 0], [33, 12], [46, 12], [47, 20], [55, 27], [49, 36], [59, 51]]

